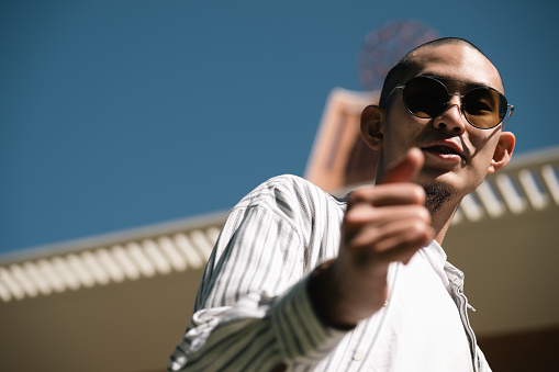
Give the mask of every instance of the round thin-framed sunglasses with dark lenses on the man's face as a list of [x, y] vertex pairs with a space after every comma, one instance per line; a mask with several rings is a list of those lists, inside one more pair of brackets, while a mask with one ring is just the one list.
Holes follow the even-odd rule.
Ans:
[[412, 115], [422, 119], [440, 116], [448, 110], [451, 95], [461, 98], [460, 111], [468, 123], [477, 128], [491, 129], [501, 124], [506, 116], [506, 121], [503, 124], [504, 127], [508, 117], [513, 114], [514, 106], [507, 104], [506, 98], [493, 88], [469, 83], [473, 88], [463, 95], [458, 93], [450, 94], [445, 83], [440, 80], [465, 82], [451, 79], [435, 79], [427, 76], [415, 77], [410, 79], [404, 86], [394, 87], [381, 106], [387, 104], [396, 89], [403, 89], [405, 108]]

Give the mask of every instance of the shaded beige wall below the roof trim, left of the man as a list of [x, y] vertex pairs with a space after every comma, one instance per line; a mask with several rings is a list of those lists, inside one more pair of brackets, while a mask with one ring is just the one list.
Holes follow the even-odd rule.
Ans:
[[201, 273], [0, 304], [0, 371], [166, 371]]

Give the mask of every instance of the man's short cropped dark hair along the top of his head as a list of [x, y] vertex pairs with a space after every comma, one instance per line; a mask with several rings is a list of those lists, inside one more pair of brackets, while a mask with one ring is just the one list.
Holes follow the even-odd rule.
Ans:
[[481, 53], [481, 55], [483, 55], [485, 58], [488, 58], [488, 56], [485, 56], [483, 52], [481, 52], [476, 45], [460, 37], [443, 37], [422, 44], [418, 47], [411, 50], [410, 53], [407, 53], [390, 69], [390, 71], [387, 75], [387, 78], [384, 79], [384, 84], [382, 86], [382, 91], [380, 93], [379, 100], [380, 106], [387, 108], [388, 103], [387, 100], [395, 86], [404, 84], [405, 82], [407, 82], [409, 79], [411, 79], [413, 76], [415, 76], [415, 74], [417, 74], [417, 71], [421, 68], [421, 66], [414, 58], [417, 50], [428, 46], [435, 47], [447, 44], [462, 44], [472, 47], [473, 49]]

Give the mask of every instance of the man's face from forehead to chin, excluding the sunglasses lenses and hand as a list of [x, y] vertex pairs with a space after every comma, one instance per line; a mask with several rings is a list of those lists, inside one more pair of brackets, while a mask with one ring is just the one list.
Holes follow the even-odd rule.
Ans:
[[[504, 93], [495, 67], [469, 46], [447, 44], [424, 47], [414, 59], [420, 64], [420, 71], [415, 76], [467, 81]], [[450, 94], [465, 94], [471, 88], [459, 82], [445, 83]], [[458, 196], [472, 192], [488, 171], [493, 171], [492, 161], [502, 135], [501, 125], [491, 129], [470, 125], [460, 111], [460, 98], [456, 95], [451, 97], [450, 105], [440, 116], [420, 119], [407, 112], [402, 90], [394, 93], [396, 95], [383, 124], [380, 167], [385, 169], [391, 162], [401, 159], [411, 147], [418, 147], [425, 157], [417, 179], [420, 184], [444, 185]]]

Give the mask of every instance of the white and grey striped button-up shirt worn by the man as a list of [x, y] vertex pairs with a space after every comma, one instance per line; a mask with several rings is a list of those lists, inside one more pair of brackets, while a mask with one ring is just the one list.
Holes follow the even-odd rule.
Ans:
[[345, 210], [294, 176], [246, 195], [220, 234], [169, 371], [491, 371], [468, 323], [463, 275], [436, 243], [390, 267], [388, 305], [354, 330], [316, 317], [309, 273], [337, 256]]

